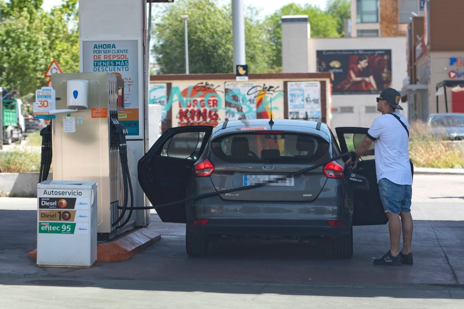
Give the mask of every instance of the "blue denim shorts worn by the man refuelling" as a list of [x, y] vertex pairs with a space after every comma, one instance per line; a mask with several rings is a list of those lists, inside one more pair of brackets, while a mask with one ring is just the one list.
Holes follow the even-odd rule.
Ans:
[[379, 192], [386, 213], [400, 214], [401, 211], [411, 211], [412, 186], [410, 184], [396, 184], [387, 178], [381, 178]]

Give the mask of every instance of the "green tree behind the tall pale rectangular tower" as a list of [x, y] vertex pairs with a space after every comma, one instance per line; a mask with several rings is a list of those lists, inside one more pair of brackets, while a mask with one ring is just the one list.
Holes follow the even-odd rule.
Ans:
[[282, 67], [282, 16], [284, 15], [308, 15], [312, 38], [340, 36], [337, 32], [336, 19], [319, 7], [310, 4], [300, 6], [295, 3], [282, 6], [264, 21], [273, 49], [271, 65], [274, 67]]

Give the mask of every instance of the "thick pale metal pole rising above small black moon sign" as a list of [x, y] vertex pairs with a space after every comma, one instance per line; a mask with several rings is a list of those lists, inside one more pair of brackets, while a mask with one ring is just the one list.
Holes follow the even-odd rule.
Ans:
[[245, 62], [245, 18], [243, 15], [243, 0], [232, 0], [232, 46], [233, 72], [238, 64]]

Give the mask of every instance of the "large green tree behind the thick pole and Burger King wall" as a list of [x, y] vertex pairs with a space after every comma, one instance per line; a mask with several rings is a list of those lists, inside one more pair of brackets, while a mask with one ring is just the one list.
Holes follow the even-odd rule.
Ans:
[[[184, 21], [188, 15], [190, 73], [232, 72], [232, 8], [213, 0], [180, 0], [156, 14], [152, 52], [162, 74], [185, 73]], [[245, 52], [251, 73], [272, 71], [272, 47], [256, 9], [245, 10]]]

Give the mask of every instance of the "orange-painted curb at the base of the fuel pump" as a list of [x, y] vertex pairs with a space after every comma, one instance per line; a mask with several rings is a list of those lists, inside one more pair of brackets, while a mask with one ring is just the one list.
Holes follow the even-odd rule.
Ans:
[[[118, 237], [116, 240], [97, 245], [97, 261], [125, 261], [161, 239], [154, 226], [141, 227]], [[37, 259], [37, 248], [29, 252], [29, 256]]]

